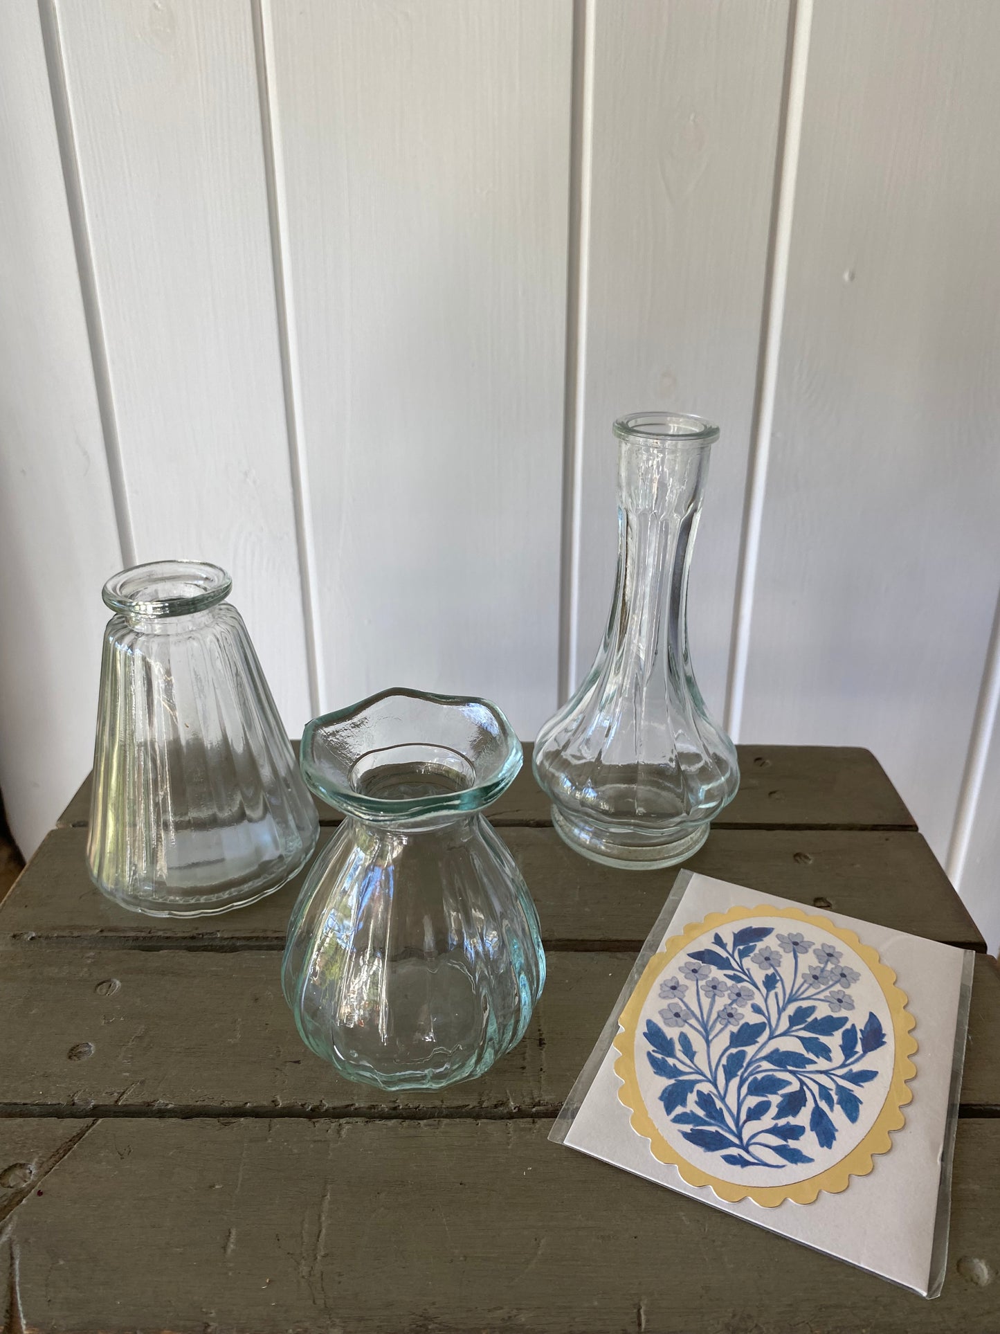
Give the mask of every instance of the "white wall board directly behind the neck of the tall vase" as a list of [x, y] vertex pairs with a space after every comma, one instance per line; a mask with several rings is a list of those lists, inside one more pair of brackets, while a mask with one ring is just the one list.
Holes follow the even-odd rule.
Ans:
[[596, 5], [572, 684], [613, 583], [611, 424], [673, 408], [723, 428], [695, 552], [691, 639], [721, 716], [768, 259], [788, 5]]

